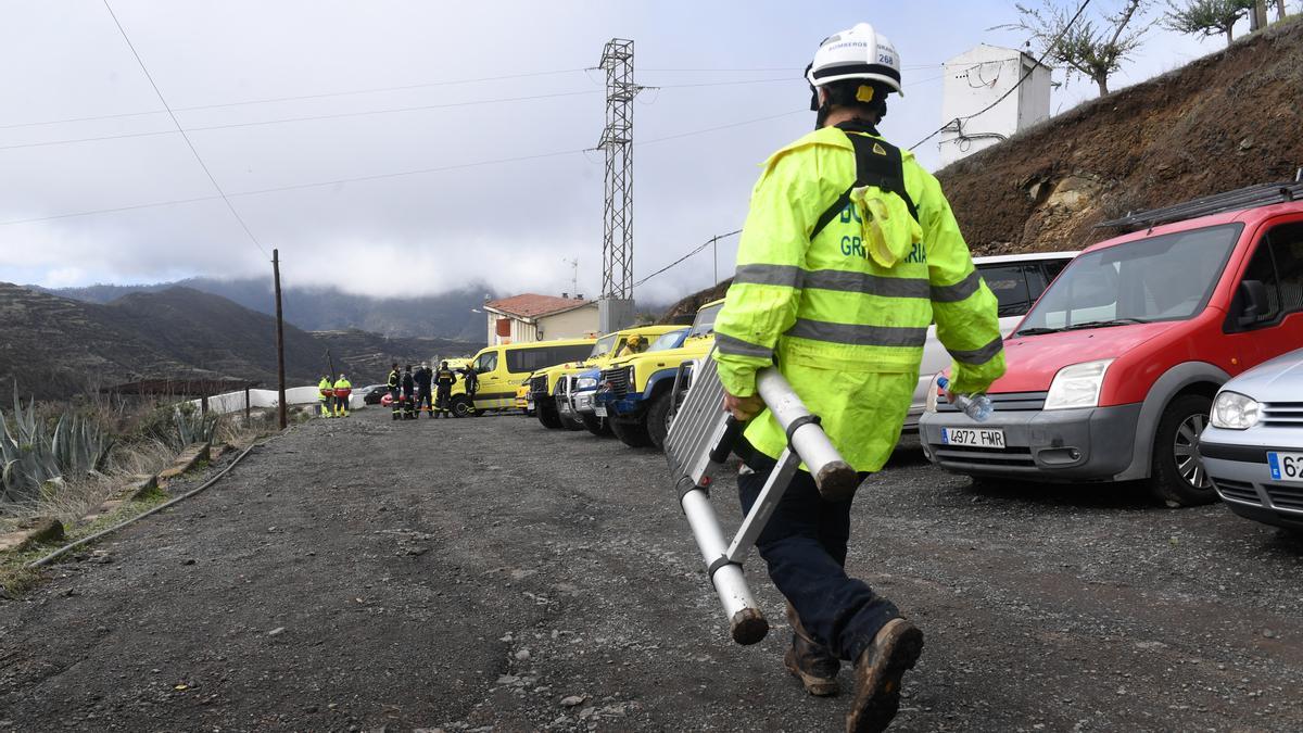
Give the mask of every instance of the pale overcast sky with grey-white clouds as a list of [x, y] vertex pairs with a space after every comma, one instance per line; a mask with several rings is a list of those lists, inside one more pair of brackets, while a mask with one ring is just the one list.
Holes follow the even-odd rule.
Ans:
[[[1016, 14], [985, 0], [109, 1], [262, 249], [214, 198], [102, 0], [0, 0], [0, 280], [261, 277], [275, 247], [289, 286], [560, 292], [577, 258], [579, 291], [597, 295], [602, 160], [584, 149], [603, 97], [601, 73], [584, 69], [607, 39], [633, 39], [637, 81], [663, 87], [635, 107], [637, 277], [741, 224], [757, 164], [813, 124], [800, 72], [823, 37], [869, 21], [895, 42], [907, 97], [882, 129], [902, 146], [941, 124], [942, 61], [1024, 40], [989, 30]], [[1222, 46], [1154, 29], [1113, 85]], [[466, 82], [519, 74], [534, 76]], [[1052, 108], [1093, 94], [1068, 83]], [[99, 119], [29, 124], [82, 117]], [[711, 129], [723, 125], [736, 127]], [[936, 166], [934, 141], [917, 153]], [[495, 163], [526, 157], [538, 158]], [[394, 175], [410, 171], [426, 172]], [[380, 177], [328, 183], [369, 176]], [[142, 206], [175, 201], [189, 202]], [[734, 247], [719, 245], [721, 277]], [[711, 278], [708, 249], [637, 296], [668, 300]]]

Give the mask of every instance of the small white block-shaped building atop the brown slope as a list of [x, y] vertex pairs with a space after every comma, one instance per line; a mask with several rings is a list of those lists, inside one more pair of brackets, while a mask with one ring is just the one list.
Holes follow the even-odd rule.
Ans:
[[[939, 145], [941, 166], [1048, 120], [1050, 70], [1022, 51], [985, 43], [946, 61], [941, 99], [941, 123], [945, 125]], [[1018, 80], [1028, 72], [1031, 76], [1018, 86]], [[1009, 94], [1015, 86], [1016, 91]], [[1001, 99], [1005, 94], [1009, 97]], [[992, 104], [995, 106], [986, 110]], [[969, 115], [976, 116], [966, 119]]]

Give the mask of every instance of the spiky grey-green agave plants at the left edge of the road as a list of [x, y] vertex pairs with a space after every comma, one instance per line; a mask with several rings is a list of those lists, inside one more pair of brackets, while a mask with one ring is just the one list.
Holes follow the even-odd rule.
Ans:
[[51, 429], [33, 403], [23, 408], [17, 390], [13, 415], [0, 411], [0, 503], [30, 502], [47, 484], [100, 471], [113, 447], [98, 425], [70, 412]]

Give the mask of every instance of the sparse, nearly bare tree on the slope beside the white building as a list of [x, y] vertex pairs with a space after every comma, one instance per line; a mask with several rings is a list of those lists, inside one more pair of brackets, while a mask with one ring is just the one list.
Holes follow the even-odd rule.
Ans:
[[1066, 67], [1068, 76], [1078, 73], [1089, 78], [1104, 97], [1109, 93], [1109, 77], [1140, 47], [1145, 29], [1135, 29], [1132, 22], [1151, 4], [1152, 0], [1124, 0], [1115, 14], [1095, 21], [1076, 18], [1079, 4], [1075, 0], [1070, 4], [1040, 0], [1036, 7], [1015, 3], [1019, 21], [998, 27], [1029, 33], [1029, 43], [1040, 46], [1046, 59]]

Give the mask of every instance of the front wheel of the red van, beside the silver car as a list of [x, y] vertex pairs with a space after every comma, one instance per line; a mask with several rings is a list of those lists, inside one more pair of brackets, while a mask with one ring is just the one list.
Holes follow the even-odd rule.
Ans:
[[1199, 458], [1199, 434], [1208, 424], [1213, 402], [1197, 394], [1171, 400], [1153, 437], [1149, 490], [1170, 507], [1217, 501], [1217, 492]]

